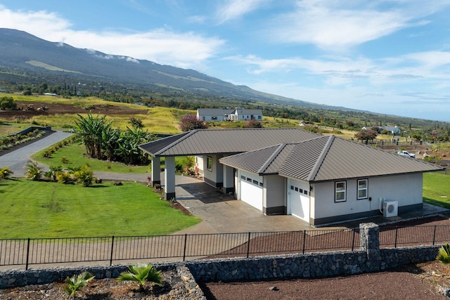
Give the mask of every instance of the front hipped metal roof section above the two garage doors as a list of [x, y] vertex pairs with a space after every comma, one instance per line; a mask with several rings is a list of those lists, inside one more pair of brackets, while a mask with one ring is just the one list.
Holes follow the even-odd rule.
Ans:
[[[274, 149], [283, 150], [269, 157]], [[264, 155], [260, 155], [264, 153]], [[280, 159], [283, 157], [283, 159]], [[278, 159], [278, 161], [276, 160]], [[293, 145], [277, 145], [270, 148], [245, 152], [224, 157], [222, 164], [259, 174], [269, 174], [268, 170], [250, 168], [252, 165], [271, 166], [271, 174], [297, 178], [303, 181], [333, 181], [345, 178], [364, 178], [391, 174], [407, 174], [444, 169], [435, 164], [396, 155], [385, 150], [375, 149], [361, 143], [338, 138], [321, 136]]]

